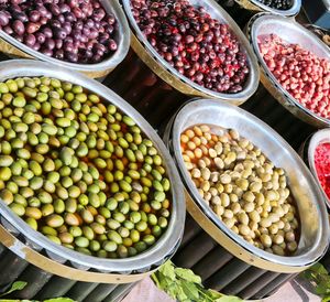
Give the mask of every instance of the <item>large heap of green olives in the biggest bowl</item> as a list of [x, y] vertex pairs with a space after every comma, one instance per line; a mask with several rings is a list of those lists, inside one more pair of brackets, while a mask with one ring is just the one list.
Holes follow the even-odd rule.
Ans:
[[172, 212], [163, 159], [135, 121], [79, 85], [0, 83], [0, 198], [56, 244], [135, 256]]

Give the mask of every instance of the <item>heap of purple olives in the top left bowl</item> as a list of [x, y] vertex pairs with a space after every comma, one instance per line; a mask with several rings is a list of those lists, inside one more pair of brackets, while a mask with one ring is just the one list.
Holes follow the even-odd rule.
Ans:
[[117, 20], [98, 0], [1, 1], [0, 30], [70, 63], [99, 63], [118, 47]]

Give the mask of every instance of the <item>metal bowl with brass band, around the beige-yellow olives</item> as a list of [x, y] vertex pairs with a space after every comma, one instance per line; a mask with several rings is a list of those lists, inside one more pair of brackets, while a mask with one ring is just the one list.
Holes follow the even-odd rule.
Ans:
[[[182, 157], [180, 133], [194, 125], [204, 123], [238, 130], [242, 137], [261, 148], [276, 166], [286, 171], [301, 219], [300, 240], [293, 256], [273, 255], [249, 244], [229, 229], [200, 197]], [[176, 160], [187, 195], [196, 207], [190, 212], [186, 202], [188, 212], [194, 216], [200, 209], [208, 220], [217, 226], [218, 233], [224, 238], [221, 239], [226, 242], [222, 247], [232, 255], [264, 270], [290, 273], [304, 270], [323, 255], [328, 247], [329, 223], [322, 192], [304, 161], [270, 126], [239, 107], [210, 99], [198, 99], [185, 105], [168, 123], [165, 142], [168, 143]], [[209, 235], [216, 238], [213, 234]]]

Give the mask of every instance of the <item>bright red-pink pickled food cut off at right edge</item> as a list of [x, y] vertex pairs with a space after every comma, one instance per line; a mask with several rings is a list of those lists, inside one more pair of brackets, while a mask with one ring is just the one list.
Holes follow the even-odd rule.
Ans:
[[316, 148], [315, 168], [320, 185], [330, 201], [330, 142], [320, 143]]

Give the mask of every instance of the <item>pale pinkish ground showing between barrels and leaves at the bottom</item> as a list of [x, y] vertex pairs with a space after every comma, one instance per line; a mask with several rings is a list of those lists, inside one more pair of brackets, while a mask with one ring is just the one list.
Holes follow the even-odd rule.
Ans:
[[[140, 296], [136, 299], [136, 296]], [[150, 278], [140, 282], [122, 302], [175, 302], [166, 293], [158, 290]], [[265, 302], [319, 302], [321, 299], [306, 289], [297, 281], [286, 283], [273, 296], [264, 299]]]

